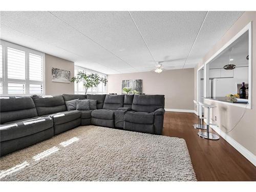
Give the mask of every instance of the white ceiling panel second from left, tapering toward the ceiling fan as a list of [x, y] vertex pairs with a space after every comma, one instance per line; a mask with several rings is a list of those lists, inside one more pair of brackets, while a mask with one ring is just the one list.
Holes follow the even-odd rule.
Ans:
[[52, 13], [135, 68], [152, 59], [126, 11]]

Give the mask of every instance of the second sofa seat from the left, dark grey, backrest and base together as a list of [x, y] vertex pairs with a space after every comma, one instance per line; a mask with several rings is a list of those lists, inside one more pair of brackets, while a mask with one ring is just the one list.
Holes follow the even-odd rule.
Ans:
[[67, 111], [62, 95], [33, 97], [38, 116], [53, 119], [54, 135], [73, 129], [81, 124], [81, 112]]

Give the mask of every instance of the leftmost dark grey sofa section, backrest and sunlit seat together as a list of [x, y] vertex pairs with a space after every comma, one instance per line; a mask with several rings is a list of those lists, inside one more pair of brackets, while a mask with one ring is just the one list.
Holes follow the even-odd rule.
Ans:
[[0, 111], [0, 156], [53, 136], [53, 119], [38, 117], [31, 97], [3, 97]]

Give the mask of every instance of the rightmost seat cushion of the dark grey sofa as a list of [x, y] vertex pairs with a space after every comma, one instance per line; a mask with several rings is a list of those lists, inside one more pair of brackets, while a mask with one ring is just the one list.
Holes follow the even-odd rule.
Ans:
[[153, 124], [154, 123], [154, 114], [146, 113], [146, 112], [128, 111], [124, 115], [124, 120], [131, 122], [131, 123]]

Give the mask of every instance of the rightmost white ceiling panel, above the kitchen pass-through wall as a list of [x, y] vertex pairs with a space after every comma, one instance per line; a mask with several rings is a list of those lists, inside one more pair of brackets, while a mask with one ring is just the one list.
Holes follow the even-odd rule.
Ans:
[[242, 14], [243, 11], [209, 11], [187, 64], [197, 65]]

